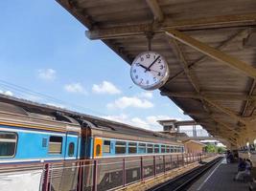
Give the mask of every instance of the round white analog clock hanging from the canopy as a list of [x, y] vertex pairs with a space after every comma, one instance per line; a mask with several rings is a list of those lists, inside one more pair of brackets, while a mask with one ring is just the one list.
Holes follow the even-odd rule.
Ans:
[[159, 53], [140, 53], [131, 64], [130, 77], [142, 89], [155, 90], [167, 81], [169, 77], [168, 64]]

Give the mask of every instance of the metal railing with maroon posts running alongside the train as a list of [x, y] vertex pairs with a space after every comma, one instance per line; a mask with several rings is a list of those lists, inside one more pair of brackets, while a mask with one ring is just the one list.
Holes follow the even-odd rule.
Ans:
[[42, 190], [113, 190], [209, 157], [212, 155], [180, 154], [46, 163]]

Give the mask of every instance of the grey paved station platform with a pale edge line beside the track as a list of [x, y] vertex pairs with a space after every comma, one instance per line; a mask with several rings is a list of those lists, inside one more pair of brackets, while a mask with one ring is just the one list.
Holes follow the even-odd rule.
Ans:
[[245, 191], [249, 184], [234, 181], [238, 163], [226, 163], [225, 159], [218, 162], [210, 171], [192, 185], [189, 191]]

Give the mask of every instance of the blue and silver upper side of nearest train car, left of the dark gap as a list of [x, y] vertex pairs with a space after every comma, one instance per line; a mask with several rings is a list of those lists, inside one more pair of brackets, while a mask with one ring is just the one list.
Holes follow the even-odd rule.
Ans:
[[0, 108], [0, 164], [80, 158], [79, 123], [42, 120], [5, 103]]

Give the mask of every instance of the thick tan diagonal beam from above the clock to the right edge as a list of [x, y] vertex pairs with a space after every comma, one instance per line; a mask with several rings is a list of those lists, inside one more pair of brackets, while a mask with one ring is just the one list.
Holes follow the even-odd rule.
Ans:
[[168, 30], [166, 32], [167, 35], [175, 38], [176, 40], [198, 50], [200, 53], [204, 53], [218, 61], [221, 61], [222, 63], [239, 70], [240, 72], [246, 74], [247, 76], [250, 76], [252, 78], [256, 78], [256, 69], [244, 61], [241, 61], [237, 59], [236, 57], [233, 57], [231, 55], [228, 55], [226, 53], [222, 53], [221, 51], [214, 49], [205, 43], [202, 43], [198, 41], [197, 39], [184, 34], [183, 32], [178, 32], [175, 30]]

